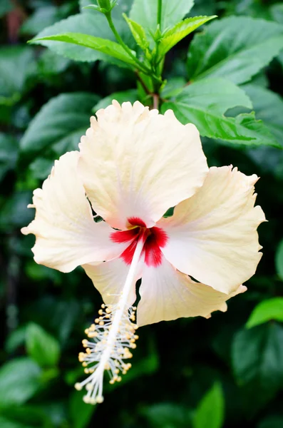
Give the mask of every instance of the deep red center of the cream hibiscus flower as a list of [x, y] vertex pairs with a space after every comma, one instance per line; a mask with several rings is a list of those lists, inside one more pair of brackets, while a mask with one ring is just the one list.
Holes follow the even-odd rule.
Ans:
[[143, 237], [143, 255], [145, 264], [148, 266], [159, 266], [162, 263], [163, 253], [160, 248], [165, 247], [168, 236], [165, 231], [157, 226], [147, 228], [143, 220], [138, 217], [128, 218], [131, 227], [128, 230], [116, 230], [111, 233], [110, 238], [114, 243], [129, 243], [128, 248], [120, 255], [127, 265], [133, 260], [138, 240]]

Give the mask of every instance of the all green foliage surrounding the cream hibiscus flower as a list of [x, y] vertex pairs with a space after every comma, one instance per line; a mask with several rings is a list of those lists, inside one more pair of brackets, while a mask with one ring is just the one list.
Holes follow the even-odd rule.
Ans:
[[[157, 29], [156, 0], [119, 0], [113, 22], [130, 54], [91, 3], [0, 0], [0, 427], [282, 428], [282, 2], [163, 0]], [[153, 93], [199, 128], [209, 165], [261, 177], [264, 255], [226, 313], [142, 327], [133, 367], [92, 407], [73, 384], [101, 297], [81, 268], [36, 265], [20, 228], [90, 116], [113, 98], [152, 107]]]

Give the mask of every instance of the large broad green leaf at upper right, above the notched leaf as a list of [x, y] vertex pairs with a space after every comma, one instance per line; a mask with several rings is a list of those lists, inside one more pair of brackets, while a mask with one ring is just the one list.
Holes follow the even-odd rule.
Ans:
[[282, 26], [247, 16], [212, 22], [190, 45], [191, 81], [225, 77], [234, 83], [249, 81], [283, 49]]

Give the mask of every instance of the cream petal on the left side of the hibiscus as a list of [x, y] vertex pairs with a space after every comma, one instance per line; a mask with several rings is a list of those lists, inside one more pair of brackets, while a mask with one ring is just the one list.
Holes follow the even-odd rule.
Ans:
[[95, 223], [91, 205], [78, 177], [79, 153], [66, 153], [51, 170], [42, 189], [34, 190], [35, 219], [21, 232], [34, 233], [36, 263], [70, 272], [78, 265], [120, 255], [128, 243], [113, 243], [113, 229]]

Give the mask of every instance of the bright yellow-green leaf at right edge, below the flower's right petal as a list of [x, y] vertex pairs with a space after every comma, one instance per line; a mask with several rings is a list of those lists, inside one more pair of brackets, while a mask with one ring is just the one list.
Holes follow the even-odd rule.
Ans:
[[283, 322], [283, 297], [274, 297], [259, 302], [249, 316], [246, 327], [255, 327], [270, 320]]

